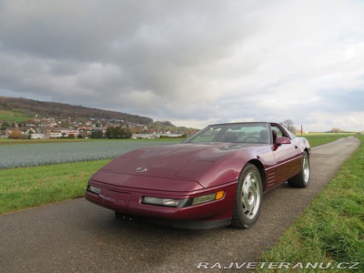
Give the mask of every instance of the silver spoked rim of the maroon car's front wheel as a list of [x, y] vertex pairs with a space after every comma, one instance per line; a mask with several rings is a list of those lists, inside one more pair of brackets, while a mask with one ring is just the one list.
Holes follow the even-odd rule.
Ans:
[[242, 213], [248, 219], [257, 216], [260, 205], [260, 180], [254, 172], [248, 173], [245, 177], [241, 190]]

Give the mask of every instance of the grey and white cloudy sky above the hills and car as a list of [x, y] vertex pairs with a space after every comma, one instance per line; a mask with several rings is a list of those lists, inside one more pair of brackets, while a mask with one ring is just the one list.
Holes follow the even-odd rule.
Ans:
[[0, 96], [364, 130], [364, 1], [0, 0]]

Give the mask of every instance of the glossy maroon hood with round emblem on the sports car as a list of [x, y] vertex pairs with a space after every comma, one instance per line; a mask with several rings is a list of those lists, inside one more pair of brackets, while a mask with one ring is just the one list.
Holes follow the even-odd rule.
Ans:
[[141, 177], [190, 179], [198, 182], [199, 178], [218, 161], [230, 157], [237, 150], [251, 146], [227, 143], [186, 143], [146, 147], [116, 158], [101, 171]]

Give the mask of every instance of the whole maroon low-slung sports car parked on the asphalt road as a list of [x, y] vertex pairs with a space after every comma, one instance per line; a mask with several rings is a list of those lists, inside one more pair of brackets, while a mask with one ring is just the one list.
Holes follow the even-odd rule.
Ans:
[[117, 157], [90, 178], [86, 199], [118, 218], [174, 227], [251, 227], [262, 194], [309, 183], [308, 140], [278, 123], [207, 126], [184, 142]]

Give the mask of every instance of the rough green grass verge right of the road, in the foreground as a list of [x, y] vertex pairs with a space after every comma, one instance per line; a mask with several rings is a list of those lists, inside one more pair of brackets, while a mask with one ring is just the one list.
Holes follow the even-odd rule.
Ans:
[[364, 136], [358, 137], [359, 149], [261, 262], [360, 262], [357, 272], [364, 272]]

